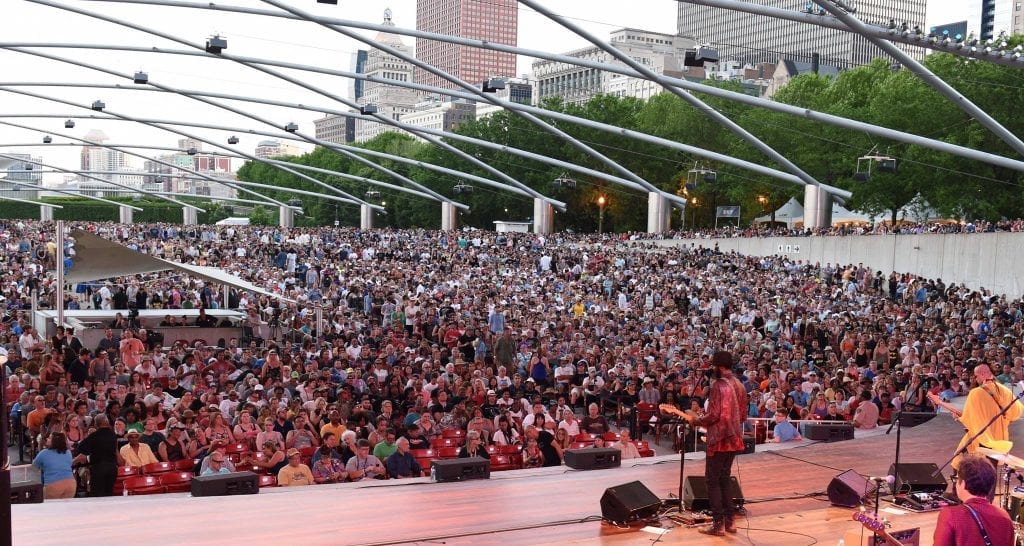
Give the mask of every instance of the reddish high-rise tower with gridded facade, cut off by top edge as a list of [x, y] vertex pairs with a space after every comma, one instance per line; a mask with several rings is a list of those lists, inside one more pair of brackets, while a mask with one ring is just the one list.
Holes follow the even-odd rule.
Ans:
[[[519, 11], [516, 0], [417, 0], [416, 29], [420, 31], [516, 45]], [[516, 75], [513, 53], [492, 51], [436, 40], [416, 39], [416, 58], [462, 80], [478, 84], [492, 77]], [[421, 69], [416, 83], [444, 89], [452, 82]]]

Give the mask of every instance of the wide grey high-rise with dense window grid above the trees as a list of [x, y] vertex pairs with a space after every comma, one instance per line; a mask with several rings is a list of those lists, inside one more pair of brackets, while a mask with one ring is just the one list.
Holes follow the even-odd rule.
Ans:
[[[802, 11], [807, 4], [806, 0], [756, 3], [792, 11]], [[927, 0], [858, 0], [853, 3], [857, 8], [856, 16], [866, 23], [879, 25], [892, 19], [910, 27], [925, 27]], [[811, 53], [819, 53], [822, 65], [848, 68], [886, 56], [879, 47], [854, 33], [687, 2], [679, 2], [677, 32], [716, 47], [720, 58], [741, 62], [776, 62], [783, 57], [810, 62]], [[901, 44], [898, 47], [916, 58], [925, 54], [921, 47]]]

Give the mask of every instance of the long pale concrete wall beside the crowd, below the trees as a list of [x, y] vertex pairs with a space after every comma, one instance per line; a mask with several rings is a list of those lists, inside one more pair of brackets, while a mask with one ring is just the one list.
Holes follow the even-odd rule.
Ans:
[[1010, 297], [1024, 295], [1024, 234], [887, 235], [679, 239], [659, 246], [714, 248], [748, 256], [779, 254], [811, 263], [863, 263], [888, 275], [910, 272]]

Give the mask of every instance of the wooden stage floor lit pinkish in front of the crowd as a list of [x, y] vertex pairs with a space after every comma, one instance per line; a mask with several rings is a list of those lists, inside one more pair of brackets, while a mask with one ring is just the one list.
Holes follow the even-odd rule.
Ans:
[[[903, 430], [901, 462], [941, 465], [963, 428], [948, 415]], [[1024, 451], [1024, 423], [1012, 427]], [[759, 447], [759, 450], [763, 447]], [[497, 472], [489, 480], [432, 484], [428, 479], [347, 484], [259, 495], [191, 498], [187, 494], [48, 501], [13, 507], [14, 544], [837, 544], [859, 529], [852, 509], [829, 506], [824, 491], [842, 471], [883, 475], [893, 462], [895, 431], [835, 444], [805, 443], [787, 450], [737, 458], [734, 474], [749, 515], [738, 535], [706, 537], [676, 527], [658, 536], [595, 520], [599, 499], [611, 486], [640, 480], [668, 498], [679, 484], [679, 457], [627, 461], [594, 471], [548, 468]], [[698, 457], [702, 457], [699, 455]], [[687, 459], [686, 474], [702, 474]], [[811, 495], [819, 493], [820, 496]], [[893, 529], [921, 528], [932, 544], [937, 512], [889, 514]], [[848, 546], [852, 546], [847, 542]]]

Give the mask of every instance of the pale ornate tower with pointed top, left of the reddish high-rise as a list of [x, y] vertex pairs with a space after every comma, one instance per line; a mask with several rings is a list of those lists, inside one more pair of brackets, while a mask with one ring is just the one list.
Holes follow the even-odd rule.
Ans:
[[[391, 10], [384, 10], [384, 25], [394, 27], [391, 22]], [[412, 54], [412, 50], [401, 37], [389, 32], [377, 34], [374, 40], [382, 45], [402, 53]], [[413, 65], [407, 62], [390, 53], [385, 53], [380, 49], [373, 48], [367, 54], [366, 74], [369, 77], [384, 78], [399, 82], [413, 81]], [[404, 114], [411, 114], [416, 110], [416, 104], [423, 99], [419, 91], [406, 87], [395, 87], [377, 81], [367, 81], [362, 86], [362, 96], [355, 102], [359, 107], [374, 106], [377, 114], [398, 120]], [[380, 123], [370, 118], [355, 120], [355, 141], [366, 142], [375, 136], [389, 130], [394, 130], [390, 125]]]

